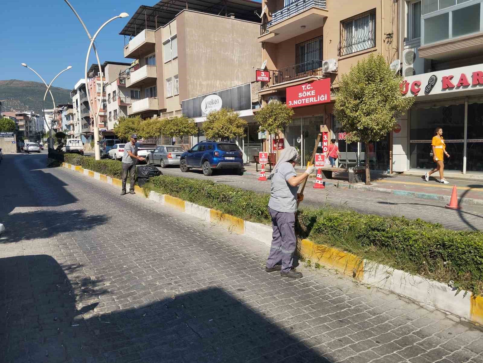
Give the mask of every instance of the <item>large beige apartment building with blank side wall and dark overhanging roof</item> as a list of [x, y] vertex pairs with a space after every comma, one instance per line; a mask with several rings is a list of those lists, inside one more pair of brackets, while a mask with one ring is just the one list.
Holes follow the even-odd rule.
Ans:
[[182, 100], [253, 81], [260, 11], [250, 0], [141, 6], [120, 32], [129, 37], [124, 56], [137, 61], [126, 70], [126, 86], [141, 91], [128, 115], [181, 115]]

